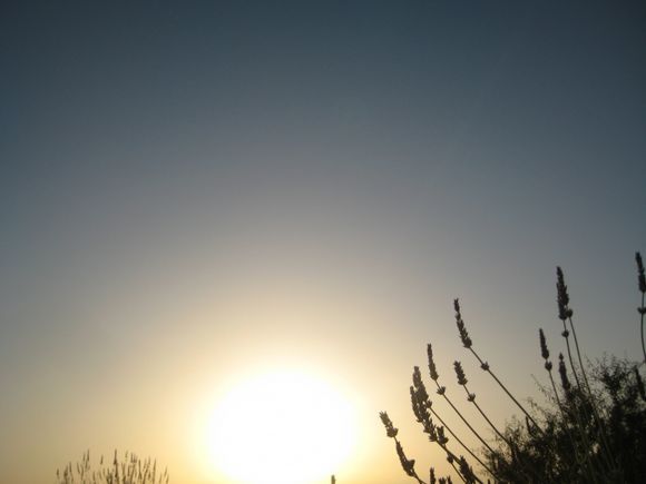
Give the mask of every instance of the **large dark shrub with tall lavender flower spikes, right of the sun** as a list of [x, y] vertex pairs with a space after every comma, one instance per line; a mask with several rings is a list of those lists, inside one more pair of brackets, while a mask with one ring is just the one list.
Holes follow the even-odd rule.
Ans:
[[[548, 404], [534, 404], [528, 411], [507, 388], [489, 364], [474, 349], [462, 318], [460, 302], [453, 302], [456, 325], [462, 346], [472, 354], [480, 368], [515, 403], [522, 414], [522, 421], [515, 419], [506, 428], [499, 429], [478, 404], [476, 394], [468, 387], [468, 377], [462, 363], [456, 360], [453, 368], [457, 383], [462, 386], [467, 402], [476, 407], [483, 421], [495, 432], [493, 442], [487, 442], [473, 424], [463, 417], [447, 387], [440, 385], [432, 345], [427, 348], [429, 376], [435, 393], [443, 398], [478, 438], [482, 448], [476, 451], [463, 443], [444, 419], [433, 408], [425, 389], [421, 371], [414, 367], [410, 387], [411, 405], [418, 423], [428, 434], [429, 441], [441, 447], [456, 475], [464, 483], [640, 483], [646, 476], [646, 392], [642, 367], [646, 363], [644, 344], [644, 316], [646, 307], [646, 276], [639, 253], [637, 281], [642, 296], [637, 312], [640, 317], [643, 359], [638, 363], [616, 357], [605, 357], [589, 364], [581, 357], [574, 324], [565, 276], [557, 267], [557, 309], [562, 323], [566, 355], [558, 355], [557, 372], [542, 329], [539, 329], [540, 356], [548, 374], [549, 384], [540, 386]], [[571, 336], [571, 339], [570, 339]], [[558, 379], [558, 383], [556, 382]], [[395, 442], [400, 463], [407, 475], [419, 484], [427, 484], [415, 470], [415, 461], [407, 457], [398, 429], [388, 413], [380, 414], [386, 436]], [[454, 443], [450, 442], [449, 433]], [[456, 450], [459, 447], [460, 450]], [[464, 457], [467, 454], [468, 457]], [[473, 471], [476, 465], [478, 472]], [[429, 471], [429, 484], [451, 483], [450, 476], [435, 477], [434, 468]]]

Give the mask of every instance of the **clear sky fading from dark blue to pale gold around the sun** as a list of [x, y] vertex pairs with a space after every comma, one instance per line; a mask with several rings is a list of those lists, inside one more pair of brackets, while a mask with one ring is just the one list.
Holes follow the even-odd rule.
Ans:
[[205, 419], [275, 367], [356, 409], [340, 484], [409, 482], [380, 411], [444, 468], [413, 365], [509, 418], [459, 297], [540, 398], [557, 265], [586, 355], [639, 357], [644, 2], [7, 1], [0, 62], [1, 482], [117, 447], [224, 483]]

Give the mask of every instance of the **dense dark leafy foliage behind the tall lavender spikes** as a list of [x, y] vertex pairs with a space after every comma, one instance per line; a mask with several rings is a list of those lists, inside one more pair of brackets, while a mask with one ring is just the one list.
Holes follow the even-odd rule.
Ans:
[[[501, 482], [643, 482], [646, 475], [646, 399], [634, 363], [604, 359], [589, 367], [594, 395], [567, 384], [539, 409], [541, 429], [516, 421], [506, 428], [512, 446], [499, 442], [486, 458]], [[547, 389], [546, 389], [547, 392]], [[605, 437], [591, 411], [600, 409]], [[607, 447], [607, 451], [605, 451]]]

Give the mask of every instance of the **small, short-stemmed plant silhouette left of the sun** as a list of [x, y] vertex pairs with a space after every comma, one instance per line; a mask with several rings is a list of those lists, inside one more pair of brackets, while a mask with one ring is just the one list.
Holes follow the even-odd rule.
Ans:
[[84, 453], [81, 460], [72, 465], [67, 464], [62, 471], [56, 472], [57, 484], [168, 484], [168, 471], [157, 471], [157, 462], [150, 458], [140, 460], [136, 454], [126, 452], [123, 460], [117, 451], [111, 463], [104, 464], [99, 460], [97, 468], [92, 468], [90, 452]]

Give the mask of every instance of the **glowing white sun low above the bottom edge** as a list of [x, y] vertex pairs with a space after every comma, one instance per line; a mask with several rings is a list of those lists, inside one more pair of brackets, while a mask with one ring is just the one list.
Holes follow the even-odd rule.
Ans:
[[355, 443], [352, 405], [325, 382], [298, 372], [264, 374], [234, 387], [207, 428], [213, 464], [244, 484], [330, 478]]

